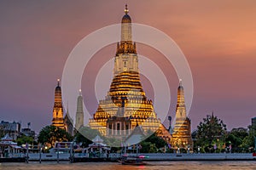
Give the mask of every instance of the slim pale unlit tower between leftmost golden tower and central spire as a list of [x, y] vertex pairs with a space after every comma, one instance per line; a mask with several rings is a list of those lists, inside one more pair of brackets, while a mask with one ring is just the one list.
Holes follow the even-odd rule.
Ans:
[[83, 126], [84, 126], [83, 96], [80, 89], [78, 104], [77, 104], [77, 113], [76, 113], [76, 124], [75, 124], [76, 131], [79, 131], [79, 128]]

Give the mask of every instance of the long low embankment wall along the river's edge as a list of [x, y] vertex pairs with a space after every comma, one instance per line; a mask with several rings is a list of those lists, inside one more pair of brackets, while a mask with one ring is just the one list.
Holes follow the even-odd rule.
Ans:
[[[107, 157], [92, 158], [75, 154], [70, 159], [70, 154], [29, 154], [28, 161], [72, 161], [72, 162], [96, 162], [118, 161], [120, 154], [110, 154]], [[256, 161], [252, 153], [212, 153], [212, 154], [172, 154], [172, 153], [147, 153], [129, 154], [128, 156], [144, 156], [143, 161]], [[0, 162], [25, 162], [25, 157], [0, 158]]]

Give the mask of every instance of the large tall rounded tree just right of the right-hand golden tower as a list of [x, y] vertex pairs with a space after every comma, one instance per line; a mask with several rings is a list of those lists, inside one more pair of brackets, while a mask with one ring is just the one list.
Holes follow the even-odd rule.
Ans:
[[221, 149], [225, 135], [226, 125], [217, 116], [207, 115], [203, 122], [197, 126], [195, 145], [201, 147], [201, 151], [212, 152], [214, 148]]

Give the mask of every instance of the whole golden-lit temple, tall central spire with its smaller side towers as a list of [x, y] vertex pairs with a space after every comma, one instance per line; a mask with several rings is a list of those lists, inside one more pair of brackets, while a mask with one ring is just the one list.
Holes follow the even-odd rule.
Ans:
[[[160, 122], [160, 118], [154, 112], [152, 100], [148, 99], [143, 91], [136, 42], [132, 42], [131, 17], [128, 13], [129, 10], [125, 5], [125, 15], [121, 20], [121, 40], [117, 42], [114, 56], [113, 81], [105, 99], [99, 101], [95, 114], [90, 118], [89, 127], [98, 130], [102, 136], [122, 141], [129, 139], [131, 135], [136, 133], [143, 133], [147, 136], [148, 133], [155, 132], [157, 136], [165, 139], [166, 143], [172, 146], [173, 149], [188, 146], [192, 149], [190, 120], [186, 114], [182, 82], [180, 81], [177, 88], [176, 123], [172, 133], [171, 127], [167, 130]], [[55, 102], [61, 103], [59, 83], [56, 90], [58, 92], [55, 92], [55, 98], [57, 98]], [[84, 120], [83, 109], [81, 109], [82, 102], [80, 101], [82, 99], [81, 94], [79, 96], [79, 114], [77, 113], [76, 120]], [[62, 108], [56, 109], [60, 105], [55, 105], [52, 124], [65, 127], [65, 118], [63, 120], [60, 118], [63, 113], [56, 112], [56, 110], [63, 110]], [[81, 123], [73, 126], [83, 127]]]

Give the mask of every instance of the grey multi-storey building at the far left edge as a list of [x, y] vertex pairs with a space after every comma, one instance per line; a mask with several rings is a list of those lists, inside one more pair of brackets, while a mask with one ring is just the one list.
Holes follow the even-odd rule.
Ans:
[[3, 135], [8, 134], [10, 139], [16, 140], [20, 136], [20, 122], [0, 122]]

